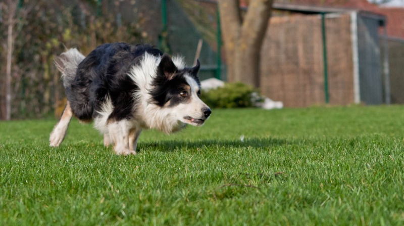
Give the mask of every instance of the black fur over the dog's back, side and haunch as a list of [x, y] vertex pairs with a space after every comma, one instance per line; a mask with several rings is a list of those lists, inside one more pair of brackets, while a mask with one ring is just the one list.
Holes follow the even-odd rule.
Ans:
[[156, 57], [163, 55], [151, 46], [127, 43], [103, 44], [93, 50], [79, 64], [74, 81], [66, 87], [73, 114], [82, 121], [90, 121], [109, 95], [114, 105], [110, 119], [130, 117], [132, 94], [138, 87], [127, 74], [145, 52]]

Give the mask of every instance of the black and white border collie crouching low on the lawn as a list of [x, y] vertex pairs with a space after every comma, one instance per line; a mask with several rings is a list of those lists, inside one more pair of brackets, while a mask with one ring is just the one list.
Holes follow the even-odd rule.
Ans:
[[148, 45], [108, 43], [87, 57], [70, 49], [55, 63], [67, 104], [49, 138], [53, 147], [63, 142], [73, 115], [94, 121], [104, 145], [128, 155], [136, 154], [142, 129], [176, 132], [186, 124], [203, 125], [211, 114], [199, 99], [199, 61], [186, 67], [182, 58]]

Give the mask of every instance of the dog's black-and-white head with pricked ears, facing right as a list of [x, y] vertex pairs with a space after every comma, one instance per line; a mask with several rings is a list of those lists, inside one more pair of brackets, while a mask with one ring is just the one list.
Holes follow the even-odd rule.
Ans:
[[164, 54], [150, 90], [151, 101], [160, 107], [170, 108], [179, 121], [203, 125], [211, 109], [199, 99], [200, 82], [197, 77], [199, 61], [192, 68], [178, 68], [168, 54]]

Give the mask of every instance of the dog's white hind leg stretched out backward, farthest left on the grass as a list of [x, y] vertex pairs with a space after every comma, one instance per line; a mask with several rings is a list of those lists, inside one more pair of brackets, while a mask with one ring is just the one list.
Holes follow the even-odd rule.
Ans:
[[55, 125], [54, 130], [52, 130], [51, 137], [49, 138], [49, 143], [51, 147], [58, 147], [62, 144], [63, 139], [65, 139], [67, 128], [69, 127], [70, 120], [72, 119], [73, 113], [70, 108], [70, 103], [67, 102], [65, 110], [63, 110], [62, 117], [59, 122]]

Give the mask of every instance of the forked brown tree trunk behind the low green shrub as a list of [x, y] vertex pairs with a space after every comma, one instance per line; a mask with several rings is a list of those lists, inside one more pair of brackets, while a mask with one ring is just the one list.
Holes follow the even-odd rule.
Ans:
[[261, 45], [273, 0], [251, 0], [241, 23], [237, 0], [219, 0], [228, 81], [260, 86]]

